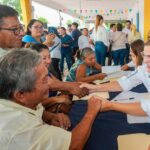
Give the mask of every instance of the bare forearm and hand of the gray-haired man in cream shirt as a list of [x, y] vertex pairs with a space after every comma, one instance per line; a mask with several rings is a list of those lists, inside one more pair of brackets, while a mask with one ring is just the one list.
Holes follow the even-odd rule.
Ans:
[[101, 101], [91, 98], [88, 102], [88, 109], [81, 122], [72, 130], [72, 138], [69, 150], [82, 150], [89, 138], [92, 124], [100, 111]]

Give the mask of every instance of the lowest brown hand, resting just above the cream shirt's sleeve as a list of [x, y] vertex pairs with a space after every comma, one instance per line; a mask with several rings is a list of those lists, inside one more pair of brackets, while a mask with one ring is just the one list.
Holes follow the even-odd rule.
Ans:
[[55, 117], [51, 119], [51, 124], [67, 130], [71, 126], [71, 121], [67, 115], [63, 113], [58, 113], [55, 114]]

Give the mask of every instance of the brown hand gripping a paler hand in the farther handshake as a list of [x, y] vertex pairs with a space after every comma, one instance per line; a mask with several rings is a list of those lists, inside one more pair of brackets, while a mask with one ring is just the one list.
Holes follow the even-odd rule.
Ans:
[[80, 87], [81, 83], [73, 82], [72, 86], [70, 86], [70, 94], [76, 95], [79, 98], [84, 97], [89, 94], [89, 90], [86, 87]]

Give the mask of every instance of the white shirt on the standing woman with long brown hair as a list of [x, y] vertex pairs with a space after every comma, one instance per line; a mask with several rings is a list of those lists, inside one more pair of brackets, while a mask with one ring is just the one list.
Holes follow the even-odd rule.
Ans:
[[106, 46], [109, 45], [107, 31], [106, 31], [106, 29], [103, 26], [98, 26], [97, 31], [94, 28], [93, 33], [91, 35], [91, 39], [94, 42], [100, 41], [100, 42], [103, 42]]

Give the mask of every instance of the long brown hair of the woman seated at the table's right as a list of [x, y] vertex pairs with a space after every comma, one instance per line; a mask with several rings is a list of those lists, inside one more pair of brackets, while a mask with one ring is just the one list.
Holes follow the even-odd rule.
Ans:
[[138, 58], [137, 65], [142, 65], [143, 57], [142, 52], [144, 51], [144, 41], [143, 40], [135, 40], [131, 43], [131, 50]]

